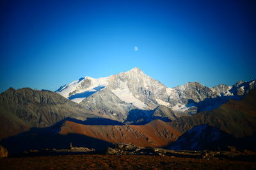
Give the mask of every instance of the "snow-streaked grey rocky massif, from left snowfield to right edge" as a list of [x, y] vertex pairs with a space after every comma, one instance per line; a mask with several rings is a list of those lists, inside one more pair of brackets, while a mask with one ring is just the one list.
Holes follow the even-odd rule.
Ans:
[[[119, 113], [123, 116], [127, 115], [134, 107], [139, 110], [154, 110], [160, 105], [174, 111], [194, 114], [198, 111], [212, 110], [227, 99], [239, 99], [252, 89], [256, 89], [255, 81], [239, 81], [233, 86], [218, 85], [211, 88], [196, 81], [168, 88], [147, 76], [138, 67], [134, 67], [129, 71], [104, 78], [86, 76], [61, 86], [56, 92], [83, 104], [88, 110], [92, 110], [97, 105], [97, 108], [104, 113], [109, 111], [111, 117], [113, 115], [118, 117]], [[100, 103], [97, 103], [96, 99]], [[113, 101], [115, 106], [110, 107], [109, 101], [104, 103], [106, 99]], [[113, 112], [114, 108], [118, 114]]]

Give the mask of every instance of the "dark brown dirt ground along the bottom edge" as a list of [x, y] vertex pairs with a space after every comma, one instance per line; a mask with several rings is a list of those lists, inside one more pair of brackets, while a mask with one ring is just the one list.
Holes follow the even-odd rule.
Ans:
[[256, 169], [256, 162], [148, 155], [60, 155], [0, 159], [0, 169]]

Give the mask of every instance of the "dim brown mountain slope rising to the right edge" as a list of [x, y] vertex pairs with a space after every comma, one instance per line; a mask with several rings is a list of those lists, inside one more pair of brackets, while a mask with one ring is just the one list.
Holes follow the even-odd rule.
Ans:
[[180, 117], [170, 124], [181, 133], [196, 125], [208, 124], [236, 138], [252, 136], [256, 132], [256, 90], [251, 90], [240, 101], [230, 99], [215, 110]]

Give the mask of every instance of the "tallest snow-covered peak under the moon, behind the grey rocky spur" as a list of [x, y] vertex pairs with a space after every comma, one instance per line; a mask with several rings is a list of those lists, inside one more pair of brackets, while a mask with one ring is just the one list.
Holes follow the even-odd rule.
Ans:
[[80, 103], [105, 87], [125, 103], [132, 103], [142, 110], [154, 109], [161, 104], [168, 106], [166, 87], [147, 76], [138, 67], [106, 78], [96, 79], [86, 76], [63, 86], [56, 92]]

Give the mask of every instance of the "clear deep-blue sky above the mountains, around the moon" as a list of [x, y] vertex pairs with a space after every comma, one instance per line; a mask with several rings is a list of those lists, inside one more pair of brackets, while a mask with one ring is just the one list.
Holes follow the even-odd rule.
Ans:
[[[255, 79], [253, 1], [0, 3], [0, 92], [140, 69], [167, 87]], [[138, 50], [134, 49], [138, 46]]]

